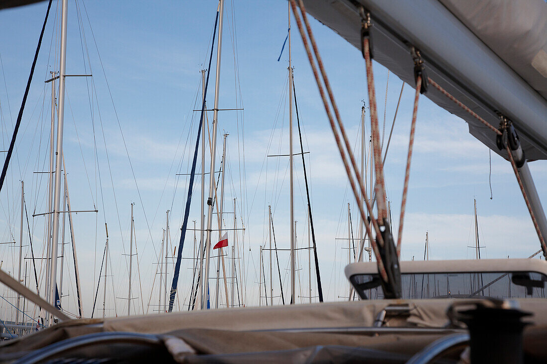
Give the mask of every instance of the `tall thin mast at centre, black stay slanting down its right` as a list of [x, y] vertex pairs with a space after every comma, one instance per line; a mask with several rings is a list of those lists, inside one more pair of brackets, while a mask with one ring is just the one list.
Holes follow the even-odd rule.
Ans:
[[293, 176], [293, 68], [290, 48], [290, 4], [289, 4], [289, 196], [290, 196], [290, 294], [292, 303], [296, 303], [296, 257], [294, 249], [294, 176]]

